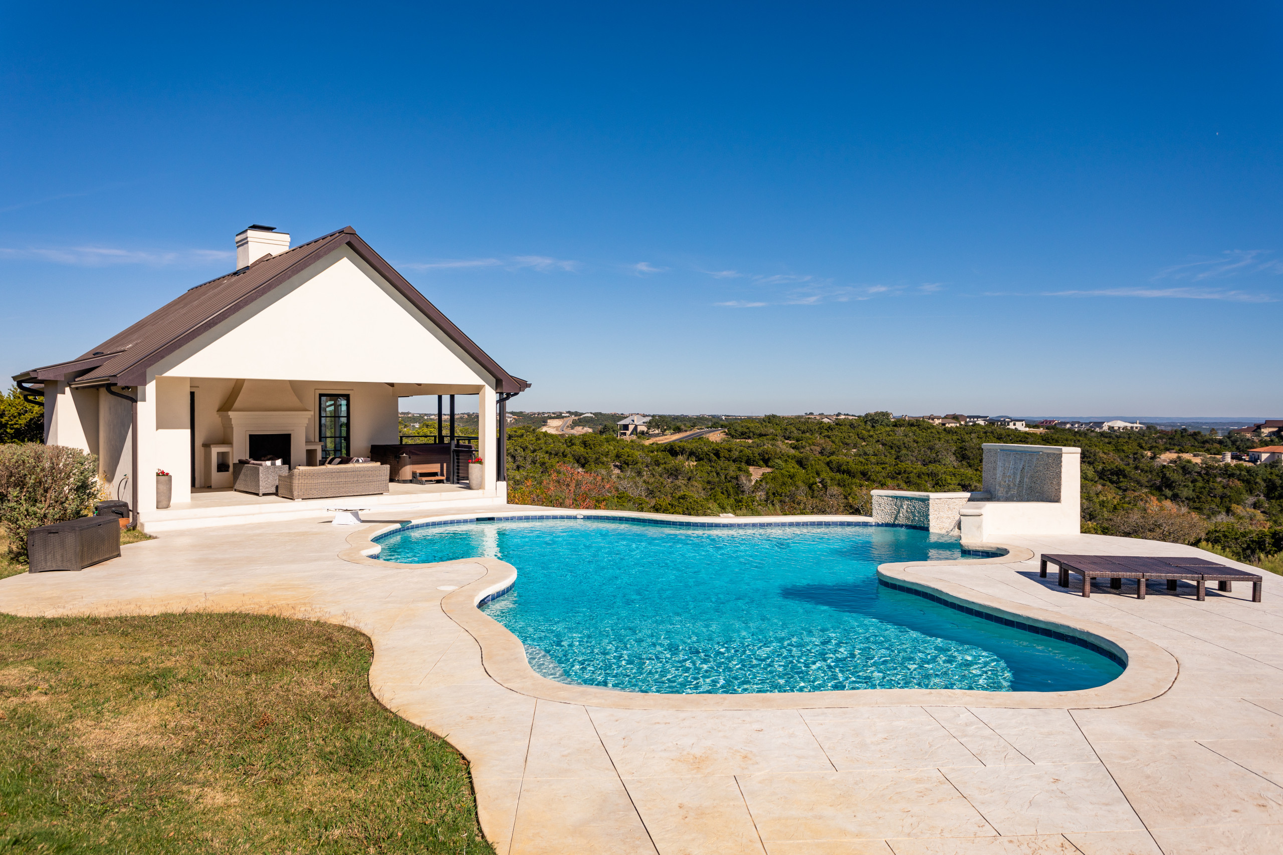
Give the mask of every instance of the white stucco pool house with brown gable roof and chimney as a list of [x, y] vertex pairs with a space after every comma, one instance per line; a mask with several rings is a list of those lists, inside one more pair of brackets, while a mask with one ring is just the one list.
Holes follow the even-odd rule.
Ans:
[[[436, 445], [441, 460], [463, 456], [463, 479], [471, 456], [484, 471], [464, 485], [452, 465], [449, 483], [416, 484], [432, 496], [411, 498], [502, 502], [506, 402], [530, 386], [352, 227], [290, 248], [290, 236], [269, 226], [236, 235], [235, 271], [185, 289], [74, 359], [14, 380], [44, 395], [45, 442], [96, 454], [113, 497], [144, 529], [316, 512], [232, 492], [232, 465], [275, 457], [293, 470], [377, 453], [395, 462], [399, 399], [408, 395], [441, 395], [450, 412], [454, 397], [477, 395], [479, 435], [443, 435]], [[391, 469], [393, 480], [408, 480]], [[168, 508], [157, 507], [157, 470], [172, 476]], [[391, 487], [362, 503], [409, 501], [412, 485]]]

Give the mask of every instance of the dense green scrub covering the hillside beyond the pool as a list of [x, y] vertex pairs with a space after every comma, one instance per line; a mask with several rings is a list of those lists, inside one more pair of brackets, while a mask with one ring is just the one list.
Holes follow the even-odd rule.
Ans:
[[[1221, 463], [1259, 444], [1185, 430], [1026, 434], [865, 413], [825, 424], [765, 416], [717, 424], [722, 442], [645, 445], [609, 435], [509, 431], [513, 502], [708, 516], [869, 514], [872, 489], [978, 490], [983, 443], [1083, 449], [1083, 530], [1234, 556], [1283, 552], [1283, 466]], [[1183, 454], [1177, 457], [1177, 454]]]

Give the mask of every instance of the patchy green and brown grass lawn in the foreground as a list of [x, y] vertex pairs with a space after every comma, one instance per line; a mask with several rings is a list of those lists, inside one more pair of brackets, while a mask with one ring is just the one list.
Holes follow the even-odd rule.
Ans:
[[370, 639], [262, 615], [0, 615], [0, 851], [491, 852]]

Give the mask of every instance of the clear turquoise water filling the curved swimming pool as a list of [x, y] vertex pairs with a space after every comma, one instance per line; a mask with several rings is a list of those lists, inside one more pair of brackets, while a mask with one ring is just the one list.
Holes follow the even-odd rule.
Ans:
[[634, 692], [863, 688], [1065, 691], [1121, 666], [1100, 652], [879, 585], [889, 561], [962, 560], [889, 526], [677, 528], [479, 521], [378, 539], [387, 561], [497, 557], [512, 592], [482, 611], [565, 683]]

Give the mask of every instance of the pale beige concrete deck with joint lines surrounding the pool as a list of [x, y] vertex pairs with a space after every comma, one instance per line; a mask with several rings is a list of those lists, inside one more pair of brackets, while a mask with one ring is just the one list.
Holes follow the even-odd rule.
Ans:
[[[1039, 579], [1023, 551], [908, 571], [975, 602], [1139, 639], [1179, 668], [1152, 700], [1019, 709], [948, 692], [912, 705], [851, 693], [849, 705], [752, 709], [762, 696], [731, 696], [744, 701], [634, 709], [629, 693], [566, 702], [491, 677], [445, 601], [495, 562], [350, 561], [340, 552], [350, 556], [352, 534], [328, 519], [168, 531], [81, 573], [0, 580], [0, 611], [254, 611], [354, 626], [375, 643], [375, 696], [471, 761], [482, 829], [503, 855], [1283, 851], [1283, 579], [1268, 573], [1252, 603], [1250, 585], [1206, 602], [1188, 585], [1179, 596], [1155, 585], [1143, 601], [1100, 585], [1083, 600], [1055, 573]], [[1007, 542], [1032, 553], [1197, 552], [1100, 535]]]

